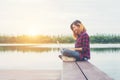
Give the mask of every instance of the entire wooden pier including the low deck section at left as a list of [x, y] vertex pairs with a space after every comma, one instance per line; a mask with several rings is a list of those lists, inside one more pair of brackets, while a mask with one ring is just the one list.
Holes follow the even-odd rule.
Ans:
[[0, 80], [113, 80], [88, 61], [63, 62], [62, 70], [0, 70]]

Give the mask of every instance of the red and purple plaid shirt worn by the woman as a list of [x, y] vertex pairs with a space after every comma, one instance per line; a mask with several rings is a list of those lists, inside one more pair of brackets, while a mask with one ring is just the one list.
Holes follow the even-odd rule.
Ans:
[[75, 48], [82, 48], [82, 51], [76, 50], [80, 53], [80, 59], [84, 57], [90, 59], [90, 45], [89, 45], [89, 35], [86, 32], [78, 35], [76, 39]]

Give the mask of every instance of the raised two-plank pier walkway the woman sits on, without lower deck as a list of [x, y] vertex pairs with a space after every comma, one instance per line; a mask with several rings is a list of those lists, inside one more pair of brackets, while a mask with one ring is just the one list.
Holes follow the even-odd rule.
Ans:
[[64, 62], [61, 80], [113, 80], [88, 61]]

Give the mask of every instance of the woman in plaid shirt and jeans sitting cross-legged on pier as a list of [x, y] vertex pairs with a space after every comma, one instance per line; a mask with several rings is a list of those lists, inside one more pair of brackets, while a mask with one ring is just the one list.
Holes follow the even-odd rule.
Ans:
[[89, 35], [86, 32], [85, 27], [79, 20], [75, 20], [70, 28], [75, 38], [75, 48], [62, 49], [62, 55], [59, 57], [63, 61], [80, 61], [90, 59], [90, 46], [89, 46]]

